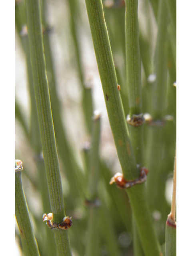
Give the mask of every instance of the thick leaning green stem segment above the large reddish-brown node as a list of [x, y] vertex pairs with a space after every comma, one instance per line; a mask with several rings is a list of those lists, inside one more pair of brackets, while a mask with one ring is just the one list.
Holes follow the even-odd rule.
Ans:
[[86, 8], [96, 60], [102, 82], [106, 108], [114, 141], [118, 153], [124, 178], [133, 180], [139, 176], [133, 156], [124, 110], [118, 91], [117, 78], [114, 68], [108, 32], [104, 20], [102, 2], [100, 0], [86, 0]]

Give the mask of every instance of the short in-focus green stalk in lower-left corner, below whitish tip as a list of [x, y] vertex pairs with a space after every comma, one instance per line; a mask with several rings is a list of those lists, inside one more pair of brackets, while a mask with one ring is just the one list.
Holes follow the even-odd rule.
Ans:
[[15, 174], [15, 215], [26, 256], [40, 256], [23, 191], [21, 172]]

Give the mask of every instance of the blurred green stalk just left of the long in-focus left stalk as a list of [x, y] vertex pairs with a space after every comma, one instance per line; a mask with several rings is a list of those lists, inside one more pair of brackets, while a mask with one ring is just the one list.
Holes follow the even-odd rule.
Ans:
[[[24, 7], [24, 8], [23, 8]], [[23, 19], [23, 24], [26, 24], [26, 8], [25, 6], [17, 6], [16, 8], [16, 16], [18, 17], [18, 20], [20, 19], [20, 16], [24, 16], [25, 19]], [[19, 31], [19, 24], [16, 22], [16, 28]], [[32, 146], [32, 148], [35, 151], [35, 162], [38, 169], [38, 188], [41, 192], [42, 196], [42, 205], [44, 212], [50, 211], [50, 200], [48, 195], [48, 186], [45, 179], [46, 171], [45, 171], [45, 165], [44, 160], [42, 156], [40, 155], [42, 153], [42, 144], [41, 144], [41, 138], [40, 138], [40, 130], [39, 130], [39, 122], [38, 122], [38, 114], [37, 114], [37, 107], [36, 107], [36, 99], [35, 99], [35, 91], [34, 91], [34, 84], [33, 84], [33, 77], [32, 77], [32, 67], [31, 67], [31, 60], [30, 60], [30, 50], [29, 50], [29, 42], [28, 42], [28, 36], [20, 36], [20, 40], [22, 42], [22, 46], [26, 55], [26, 64], [27, 64], [27, 74], [28, 74], [28, 85], [29, 85], [29, 91], [30, 91], [30, 104], [31, 104], [31, 113], [30, 113], [30, 134], [28, 134], [29, 142]], [[41, 219], [42, 222], [42, 219]], [[51, 230], [49, 230], [44, 223], [41, 223], [42, 225], [39, 225], [39, 223], [36, 223], [38, 234], [41, 232], [42, 229], [46, 230], [46, 241], [42, 244], [44, 247], [44, 253], [48, 255], [53, 255], [56, 251], [56, 245], [54, 241], [54, 234]]]

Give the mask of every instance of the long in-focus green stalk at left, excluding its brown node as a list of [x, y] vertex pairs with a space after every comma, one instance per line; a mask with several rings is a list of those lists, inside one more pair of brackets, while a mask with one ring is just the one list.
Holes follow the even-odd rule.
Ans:
[[[27, 0], [26, 11], [32, 72], [34, 78], [38, 120], [46, 168], [46, 177], [48, 182], [50, 204], [52, 208], [54, 222], [61, 223], [62, 219], [65, 216], [64, 200], [58, 156], [56, 151], [56, 141], [50, 106], [48, 81], [46, 77], [39, 0]], [[68, 232], [58, 232], [57, 230], [54, 230], [54, 234], [55, 238], [57, 238], [56, 244], [58, 255], [71, 255]], [[66, 240], [66, 246], [61, 246], [58, 248], [58, 246], [60, 245], [60, 239]]]

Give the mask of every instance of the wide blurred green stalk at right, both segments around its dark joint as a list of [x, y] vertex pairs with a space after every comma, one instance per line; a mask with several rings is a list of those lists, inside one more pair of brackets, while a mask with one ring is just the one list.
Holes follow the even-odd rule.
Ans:
[[[164, 0], [159, 1], [158, 12], [158, 35], [155, 52], [156, 81], [152, 88], [152, 105], [150, 114], [154, 120], [162, 120], [165, 109], [166, 84], [167, 84], [167, 8]], [[148, 148], [146, 150], [146, 165], [149, 174], [147, 180], [147, 195], [151, 210], [160, 210], [159, 201], [164, 198], [161, 194], [162, 184], [159, 180], [164, 179], [162, 172], [163, 157], [163, 128], [152, 127], [148, 130]], [[163, 192], [164, 193], [164, 192]], [[166, 214], [167, 216], [167, 214]], [[165, 217], [165, 216], [164, 216]]]

